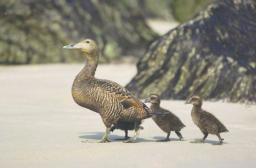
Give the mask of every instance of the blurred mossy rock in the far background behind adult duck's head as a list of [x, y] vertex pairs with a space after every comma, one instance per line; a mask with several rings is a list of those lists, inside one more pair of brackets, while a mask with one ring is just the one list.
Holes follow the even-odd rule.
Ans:
[[[147, 19], [183, 22], [212, 0], [1, 0], [0, 64], [84, 61], [62, 46], [96, 39], [100, 62], [141, 57], [158, 38]], [[70, 57], [72, 55], [72, 57]]]

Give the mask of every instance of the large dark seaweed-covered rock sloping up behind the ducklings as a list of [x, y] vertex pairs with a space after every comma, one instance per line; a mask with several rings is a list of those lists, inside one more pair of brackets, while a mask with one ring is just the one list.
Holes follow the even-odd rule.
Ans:
[[256, 1], [210, 4], [149, 47], [127, 85], [136, 96], [256, 101]]

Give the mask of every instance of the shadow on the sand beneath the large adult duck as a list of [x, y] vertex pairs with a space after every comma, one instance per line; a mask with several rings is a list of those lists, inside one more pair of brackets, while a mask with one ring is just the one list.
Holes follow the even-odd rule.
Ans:
[[[78, 136], [79, 138], [82, 138], [82, 139], [100, 140], [102, 138], [102, 136], [105, 134], [105, 132], [83, 132], [83, 133], [78, 133], [78, 134], [89, 134], [89, 135]], [[129, 136], [132, 138], [133, 134], [130, 134]], [[112, 135], [112, 134], [108, 135], [108, 139], [110, 141], [119, 142], [119, 141], [115, 140], [115, 139], [119, 139], [119, 138], [124, 138], [124, 136], [118, 136], [118, 135]], [[144, 139], [144, 138], [138, 138], [135, 142], [139, 143], [139, 142], [155, 142], [155, 141]]]

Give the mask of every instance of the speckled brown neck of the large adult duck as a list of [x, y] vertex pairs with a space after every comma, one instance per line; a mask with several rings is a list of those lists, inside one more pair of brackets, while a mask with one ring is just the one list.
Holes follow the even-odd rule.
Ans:
[[95, 71], [99, 62], [99, 53], [87, 55], [87, 61], [82, 71], [77, 75], [80, 80], [95, 78]]

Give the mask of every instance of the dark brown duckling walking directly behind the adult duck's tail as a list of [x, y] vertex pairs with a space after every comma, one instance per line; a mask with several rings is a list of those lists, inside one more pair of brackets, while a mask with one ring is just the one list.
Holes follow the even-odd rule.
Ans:
[[170, 141], [169, 136], [171, 131], [175, 131], [177, 136], [179, 136], [180, 140], [182, 137], [180, 130], [186, 127], [177, 117], [172, 114], [172, 112], [160, 107], [160, 97], [157, 94], [150, 94], [148, 99], [144, 101], [144, 103], [151, 103], [150, 109], [152, 110], [161, 110], [167, 112], [164, 116], [153, 116], [153, 121], [161, 128], [164, 132], [167, 133], [167, 136], [164, 140], [157, 140], [157, 142], [167, 142]]

